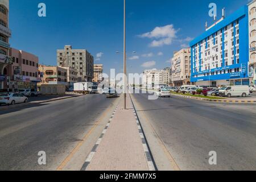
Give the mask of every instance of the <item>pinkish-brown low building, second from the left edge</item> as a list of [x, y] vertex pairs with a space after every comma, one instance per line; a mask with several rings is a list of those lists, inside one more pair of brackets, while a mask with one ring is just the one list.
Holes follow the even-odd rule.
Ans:
[[26, 51], [10, 48], [13, 64], [10, 65], [10, 89], [36, 89], [38, 78], [38, 56]]

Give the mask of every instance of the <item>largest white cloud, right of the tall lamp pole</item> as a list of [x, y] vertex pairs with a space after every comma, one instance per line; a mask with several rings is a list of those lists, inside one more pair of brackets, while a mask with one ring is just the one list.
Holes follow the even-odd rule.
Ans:
[[168, 24], [163, 27], [155, 27], [151, 32], [139, 35], [141, 38], [155, 39], [150, 43], [150, 47], [160, 47], [164, 45], [171, 45], [172, 40], [176, 38], [176, 33], [173, 24]]

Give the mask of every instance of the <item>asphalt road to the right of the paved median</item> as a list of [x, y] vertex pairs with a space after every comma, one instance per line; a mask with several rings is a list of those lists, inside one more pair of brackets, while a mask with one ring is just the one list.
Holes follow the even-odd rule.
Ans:
[[[159, 137], [179, 169], [256, 169], [255, 105], [181, 97], [148, 100], [148, 94], [132, 94], [132, 98], [143, 125], [155, 130], [154, 136], [145, 130], [146, 137]], [[150, 147], [158, 154], [159, 147]], [[209, 165], [210, 151], [217, 152], [217, 165]]]

